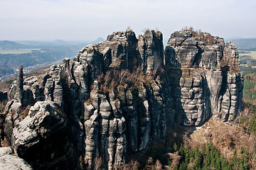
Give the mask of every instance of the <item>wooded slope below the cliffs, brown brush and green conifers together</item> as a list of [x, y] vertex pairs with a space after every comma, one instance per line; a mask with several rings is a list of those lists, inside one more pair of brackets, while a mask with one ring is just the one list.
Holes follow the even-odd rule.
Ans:
[[255, 134], [242, 122], [210, 119], [197, 130], [176, 125], [165, 143], [133, 155], [122, 169], [254, 169], [254, 141]]

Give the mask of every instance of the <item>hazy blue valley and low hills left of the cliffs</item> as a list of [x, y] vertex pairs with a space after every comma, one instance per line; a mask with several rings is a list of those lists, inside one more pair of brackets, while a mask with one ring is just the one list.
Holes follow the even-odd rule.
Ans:
[[[94, 44], [104, 41], [103, 38], [97, 38], [92, 42], [87, 41], [0, 41], [0, 79], [8, 78], [14, 74], [15, 70], [22, 64], [24, 70], [27, 67], [33, 69], [36, 65], [52, 64], [63, 60], [63, 58], [73, 58], [78, 52], [88, 44]], [[19, 53], [21, 49], [31, 49], [31, 52]], [[39, 50], [40, 49], [40, 50]], [[1, 53], [2, 50], [2, 53]], [[8, 53], [4, 53], [8, 50]], [[14, 51], [14, 53], [12, 53]]]

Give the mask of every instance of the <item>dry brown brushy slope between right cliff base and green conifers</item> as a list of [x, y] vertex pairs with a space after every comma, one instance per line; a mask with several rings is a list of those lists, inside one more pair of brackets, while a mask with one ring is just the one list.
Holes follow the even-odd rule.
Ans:
[[[197, 130], [193, 131], [186, 140], [186, 145], [193, 148], [201, 148], [207, 142], [212, 141], [216, 149], [220, 149], [221, 154], [232, 162], [235, 150], [238, 151], [238, 158], [242, 155], [240, 149], [249, 150], [252, 158], [256, 150], [256, 138], [243, 130], [242, 126], [233, 123], [223, 123], [222, 120], [210, 120]], [[252, 159], [250, 159], [252, 160]]]

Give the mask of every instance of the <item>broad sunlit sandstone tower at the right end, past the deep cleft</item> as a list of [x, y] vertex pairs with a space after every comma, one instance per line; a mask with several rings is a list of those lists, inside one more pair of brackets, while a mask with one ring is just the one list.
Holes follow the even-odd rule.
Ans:
[[182, 71], [177, 90], [181, 88], [185, 125], [202, 125], [212, 115], [226, 121], [239, 114], [242, 78], [238, 50], [231, 42], [209, 33], [176, 31], [166, 46], [165, 61]]

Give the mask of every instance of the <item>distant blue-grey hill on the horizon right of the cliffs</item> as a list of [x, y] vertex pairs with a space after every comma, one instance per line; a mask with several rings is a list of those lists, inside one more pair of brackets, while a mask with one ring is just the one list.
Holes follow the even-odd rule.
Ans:
[[231, 39], [239, 50], [256, 50], [256, 38]]

